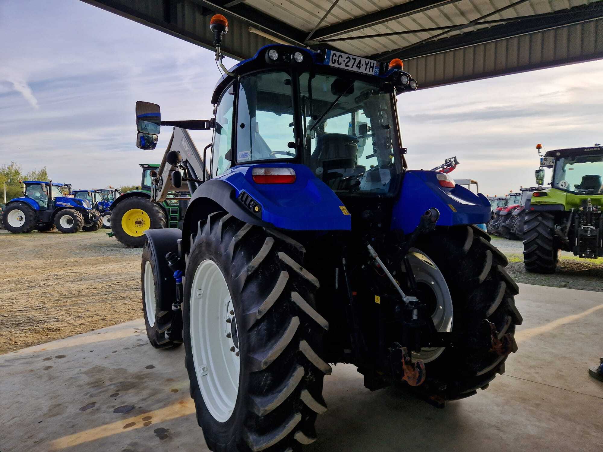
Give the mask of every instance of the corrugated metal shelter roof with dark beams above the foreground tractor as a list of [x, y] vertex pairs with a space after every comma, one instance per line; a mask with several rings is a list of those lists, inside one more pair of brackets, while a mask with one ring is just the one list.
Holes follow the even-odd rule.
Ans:
[[235, 58], [273, 40], [400, 57], [422, 86], [603, 57], [603, 0], [83, 1], [207, 48], [211, 15], [225, 14]]

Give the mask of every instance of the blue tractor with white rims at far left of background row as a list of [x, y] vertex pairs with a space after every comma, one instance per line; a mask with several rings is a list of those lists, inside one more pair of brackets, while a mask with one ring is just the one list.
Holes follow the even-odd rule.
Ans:
[[8, 201], [2, 212], [2, 224], [11, 233], [46, 232], [54, 228], [62, 233], [75, 233], [98, 222], [98, 212], [92, 209], [90, 201], [63, 195], [62, 188], [71, 192], [69, 184], [24, 181], [24, 185], [24, 196]]

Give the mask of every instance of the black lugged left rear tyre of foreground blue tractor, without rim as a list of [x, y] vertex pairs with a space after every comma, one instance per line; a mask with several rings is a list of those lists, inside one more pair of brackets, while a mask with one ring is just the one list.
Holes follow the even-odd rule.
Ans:
[[[201, 221], [186, 255], [184, 339], [197, 421], [212, 451], [292, 451], [316, 439], [326, 410], [321, 359], [328, 328], [314, 309], [318, 280], [301, 263], [300, 243], [274, 230], [216, 212]], [[226, 422], [210, 414], [191, 350], [191, 286], [206, 259], [218, 265], [232, 297], [240, 351], [236, 404]], [[200, 303], [195, 298], [195, 303]]]

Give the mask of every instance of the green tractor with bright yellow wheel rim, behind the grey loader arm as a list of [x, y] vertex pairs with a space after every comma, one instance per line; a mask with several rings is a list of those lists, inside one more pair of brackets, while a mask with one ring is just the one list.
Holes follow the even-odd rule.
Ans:
[[111, 237], [128, 248], [141, 248], [147, 237], [145, 231], [157, 228], [182, 228], [188, 195], [175, 197], [173, 193], [162, 202], [154, 201], [151, 178], [156, 177], [157, 163], [140, 163], [140, 189], [124, 193], [111, 205]]

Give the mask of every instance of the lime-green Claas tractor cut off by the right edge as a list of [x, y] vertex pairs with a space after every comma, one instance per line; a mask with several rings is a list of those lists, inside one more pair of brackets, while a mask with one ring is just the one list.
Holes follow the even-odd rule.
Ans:
[[523, 263], [526, 271], [554, 273], [560, 251], [584, 259], [603, 257], [603, 147], [540, 153], [536, 183], [552, 168], [551, 188], [532, 193], [526, 204]]

